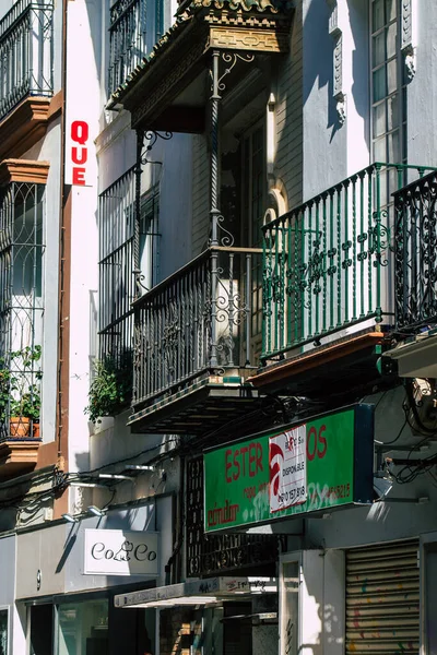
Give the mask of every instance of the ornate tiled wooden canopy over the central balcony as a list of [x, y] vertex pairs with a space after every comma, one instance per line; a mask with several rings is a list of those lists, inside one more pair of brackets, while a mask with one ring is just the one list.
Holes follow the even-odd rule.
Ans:
[[[189, 0], [153, 51], [111, 95], [108, 108], [131, 111], [132, 128], [199, 133], [211, 97], [211, 53], [220, 79], [238, 79], [238, 60], [286, 52], [292, 9], [283, 0]], [[224, 85], [221, 87], [224, 88]]]

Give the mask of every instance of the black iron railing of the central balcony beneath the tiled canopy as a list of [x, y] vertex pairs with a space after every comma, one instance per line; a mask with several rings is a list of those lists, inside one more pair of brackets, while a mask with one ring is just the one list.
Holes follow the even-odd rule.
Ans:
[[260, 249], [216, 247], [140, 298], [133, 405], [209, 372], [255, 366], [260, 282]]

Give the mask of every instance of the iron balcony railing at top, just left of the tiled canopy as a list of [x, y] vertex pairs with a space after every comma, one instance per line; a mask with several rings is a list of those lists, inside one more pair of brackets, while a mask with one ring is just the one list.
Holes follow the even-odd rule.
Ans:
[[108, 95], [127, 81], [146, 53], [145, 19], [145, 0], [118, 0], [110, 8]]

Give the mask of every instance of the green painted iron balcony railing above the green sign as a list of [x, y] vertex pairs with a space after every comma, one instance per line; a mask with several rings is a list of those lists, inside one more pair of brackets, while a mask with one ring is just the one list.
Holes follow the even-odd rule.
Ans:
[[393, 205], [430, 168], [373, 164], [263, 227], [262, 359], [392, 321]]

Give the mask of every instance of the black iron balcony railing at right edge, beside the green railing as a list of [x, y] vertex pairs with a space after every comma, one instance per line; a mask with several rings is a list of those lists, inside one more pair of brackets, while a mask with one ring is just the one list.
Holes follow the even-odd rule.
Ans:
[[437, 323], [437, 171], [394, 193], [395, 326]]

